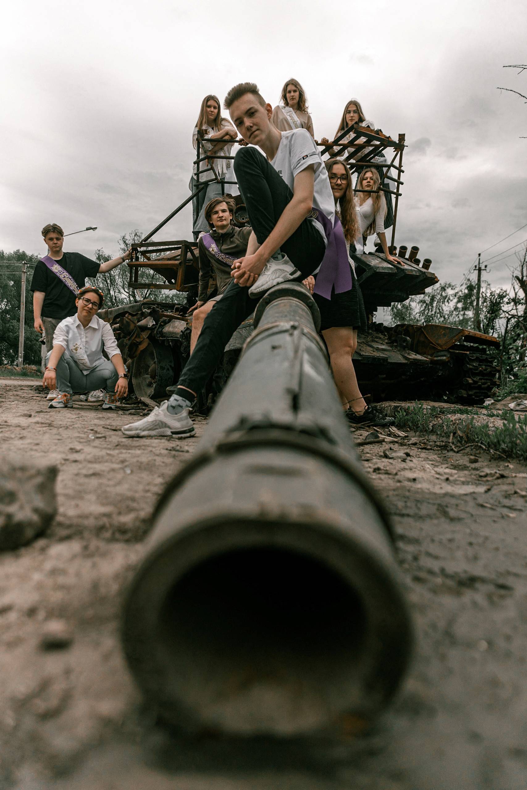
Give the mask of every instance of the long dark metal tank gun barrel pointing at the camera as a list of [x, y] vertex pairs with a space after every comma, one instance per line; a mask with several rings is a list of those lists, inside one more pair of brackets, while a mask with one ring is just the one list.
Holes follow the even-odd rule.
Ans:
[[364, 725], [412, 626], [389, 518], [352, 445], [318, 309], [273, 288], [190, 462], [152, 519], [122, 639], [161, 717], [190, 731]]

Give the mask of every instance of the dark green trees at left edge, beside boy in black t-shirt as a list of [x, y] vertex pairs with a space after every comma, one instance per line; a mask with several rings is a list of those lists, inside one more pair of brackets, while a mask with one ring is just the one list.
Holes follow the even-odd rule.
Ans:
[[[36, 264], [38, 255], [24, 250], [4, 252], [0, 250], [0, 364], [13, 365], [18, 360], [18, 337], [21, 306], [21, 261]], [[7, 261], [17, 261], [9, 263]], [[18, 262], [20, 261], [20, 262]], [[33, 327], [33, 295], [29, 290], [34, 271], [33, 265], [26, 267], [25, 314], [24, 314], [24, 362], [40, 364], [39, 335]]]

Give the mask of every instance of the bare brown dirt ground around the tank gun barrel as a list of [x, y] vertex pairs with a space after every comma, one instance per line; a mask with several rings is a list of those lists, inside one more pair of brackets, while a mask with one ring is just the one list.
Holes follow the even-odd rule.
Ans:
[[[141, 704], [119, 606], [149, 513], [205, 420], [183, 442], [126, 439], [137, 416], [53, 412], [34, 383], [0, 382], [2, 450], [58, 465], [58, 516], [0, 555], [0, 790], [525, 790], [525, 467], [411, 435], [361, 447], [416, 621], [397, 700], [338, 743], [186, 740]], [[45, 650], [57, 618], [71, 643]]]

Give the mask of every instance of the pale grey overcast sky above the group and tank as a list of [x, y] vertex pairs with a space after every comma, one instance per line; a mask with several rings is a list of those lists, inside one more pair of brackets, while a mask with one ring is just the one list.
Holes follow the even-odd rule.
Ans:
[[[203, 96], [256, 81], [273, 105], [288, 77], [307, 92], [315, 137], [344, 104], [404, 132], [398, 244], [442, 280], [527, 224], [525, 0], [337, 2], [91, 0], [9, 3], [2, 16], [0, 249], [45, 253], [40, 229], [92, 257], [150, 231], [188, 196]], [[190, 205], [157, 239], [191, 238]], [[527, 239], [527, 228], [483, 255]], [[491, 266], [494, 285], [510, 280]]]

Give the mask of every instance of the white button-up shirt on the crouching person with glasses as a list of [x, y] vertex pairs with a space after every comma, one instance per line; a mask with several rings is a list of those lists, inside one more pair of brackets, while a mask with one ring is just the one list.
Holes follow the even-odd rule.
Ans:
[[101, 360], [104, 360], [103, 348], [108, 359], [121, 353], [110, 324], [96, 315], [86, 328], [77, 315], [64, 318], [55, 329], [53, 345], [62, 345], [62, 348], [65, 348], [66, 352], [75, 359], [83, 373], [89, 373]]

